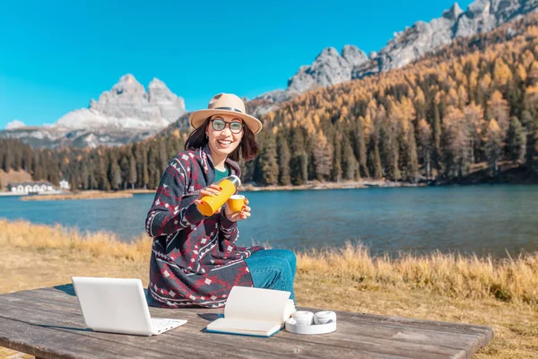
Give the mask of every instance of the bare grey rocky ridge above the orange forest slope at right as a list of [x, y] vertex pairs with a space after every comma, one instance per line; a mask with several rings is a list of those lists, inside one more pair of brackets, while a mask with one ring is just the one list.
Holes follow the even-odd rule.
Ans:
[[415, 22], [395, 33], [384, 48], [369, 56], [346, 45], [342, 52], [325, 48], [309, 66], [301, 66], [282, 92], [261, 96], [274, 101], [290, 98], [318, 86], [331, 86], [371, 74], [389, 71], [449, 45], [453, 40], [491, 31], [538, 8], [538, 0], [475, 0], [463, 11], [457, 3], [430, 22]]

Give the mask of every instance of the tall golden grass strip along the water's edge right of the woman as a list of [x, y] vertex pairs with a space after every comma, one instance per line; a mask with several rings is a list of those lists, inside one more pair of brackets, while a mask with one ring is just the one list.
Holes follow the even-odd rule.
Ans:
[[347, 243], [339, 250], [299, 253], [299, 273], [350, 278], [365, 288], [420, 289], [450, 298], [496, 298], [538, 306], [538, 252], [493, 259], [433, 253], [371, 257], [368, 248]]

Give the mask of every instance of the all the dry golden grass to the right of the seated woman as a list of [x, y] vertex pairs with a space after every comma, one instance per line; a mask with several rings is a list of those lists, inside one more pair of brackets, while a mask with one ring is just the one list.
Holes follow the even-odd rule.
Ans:
[[[538, 253], [372, 258], [348, 244], [298, 254], [299, 304], [494, 328], [476, 358], [538, 358]], [[303, 304], [307, 303], [307, 304]]]

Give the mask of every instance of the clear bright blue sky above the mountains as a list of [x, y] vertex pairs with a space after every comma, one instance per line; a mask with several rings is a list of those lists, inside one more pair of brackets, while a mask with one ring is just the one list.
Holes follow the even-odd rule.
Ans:
[[[196, 4], [195, 4], [196, 3]], [[465, 9], [471, 0], [458, 2]], [[204, 108], [218, 92], [286, 87], [332, 46], [367, 53], [453, 1], [0, 2], [0, 128], [54, 123], [131, 73]]]

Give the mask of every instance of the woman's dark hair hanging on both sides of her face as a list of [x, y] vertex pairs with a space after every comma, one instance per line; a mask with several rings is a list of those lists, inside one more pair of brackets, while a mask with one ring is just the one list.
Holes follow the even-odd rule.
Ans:
[[[208, 142], [207, 136], [205, 136], [205, 128], [209, 124], [209, 118], [205, 118], [205, 121], [202, 125], [195, 128], [193, 132], [188, 136], [187, 142], [185, 143], [186, 150], [195, 150], [197, 148], [203, 148]], [[256, 137], [250, 128], [247, 125], [243, 126], [243, 138], [239, 142], [238, 147], [233, 150], [232, 153], [228, 156], [230, 160], [238, 162], [239, 154], [245, 161], [250, 161], [256, 157], [260, 152], [258, 144], [256, 144]]]

